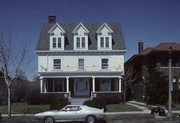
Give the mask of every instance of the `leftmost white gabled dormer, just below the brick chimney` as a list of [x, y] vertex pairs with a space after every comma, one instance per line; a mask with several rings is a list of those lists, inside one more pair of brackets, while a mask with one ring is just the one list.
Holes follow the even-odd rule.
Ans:
[[56, 23], [48, 33], [50, 50], [64, 50], [64, 29]]

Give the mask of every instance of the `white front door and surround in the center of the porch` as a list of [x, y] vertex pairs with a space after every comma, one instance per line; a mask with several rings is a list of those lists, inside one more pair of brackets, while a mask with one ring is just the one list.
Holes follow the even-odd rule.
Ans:
[[74, 96], [89, 96], [89, 79], [74, 79]]

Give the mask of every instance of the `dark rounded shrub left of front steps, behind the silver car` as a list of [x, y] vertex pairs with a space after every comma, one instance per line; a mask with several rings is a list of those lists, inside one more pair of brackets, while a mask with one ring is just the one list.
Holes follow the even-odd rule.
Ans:
[[53, 102], [50, 105], [51, 110], [62, 109], [64, 106], [70, 104], [67, 98], [61, 99], [57, 102]]

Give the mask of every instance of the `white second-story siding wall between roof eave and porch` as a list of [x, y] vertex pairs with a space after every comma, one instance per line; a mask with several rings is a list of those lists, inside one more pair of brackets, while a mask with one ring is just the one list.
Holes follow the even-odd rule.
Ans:
[[[78, 71], [78, 59], [84, 59], [85, 71], [124, 71], [124, 56], [123, 55], [68, 55], [68, 56], [38, 56], [38, 71], [39, 72], [54, 72], [54, 71]], [[101, 59], [109, 59], [109, 69], [101, 69]], [[53, 70], [53, 59], [61, 59], [61, 70]]]

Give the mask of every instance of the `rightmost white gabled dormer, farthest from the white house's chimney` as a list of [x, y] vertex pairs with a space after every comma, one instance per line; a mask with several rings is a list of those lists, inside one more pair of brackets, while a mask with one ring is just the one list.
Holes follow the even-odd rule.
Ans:
[[98, 50], [112, 50], [113, 30], [106, 23], [103, 23], [96, 33]]

